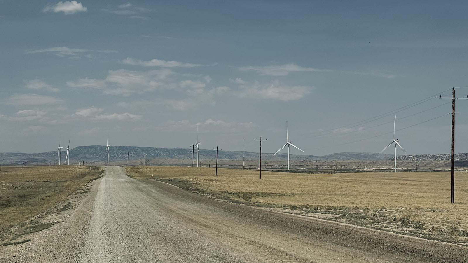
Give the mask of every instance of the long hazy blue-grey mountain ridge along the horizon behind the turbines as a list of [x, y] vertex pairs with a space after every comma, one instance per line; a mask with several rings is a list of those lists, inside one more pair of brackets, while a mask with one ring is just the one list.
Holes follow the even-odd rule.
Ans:
[[[139, 159], [191, 159], [192, 149], [186, 148], [159, 148], [159, 147], [140, 147], [140, 146], [112, 146], [110, 148], [111, 161], [127, 160], [129, 154], [130, 160]], [[219, 151], [219, 159], [242, 160], [242, 151]], [[65, 162], [66, 151], [62, 151], [62, 163]], [[276, 154], [262, 153], [262, 160], [287, 160], [287, 153]], [[77, 146], [70, 150], [70, 163], [76, 164], [78, 161], [85, 162], [103, 162], [107, 160], [106, 146]], [[291, 160], [388, 160], [393, 155], [378, 153], [333, 153], [324, 156], [291, 154]], [[197, 158], [197, 153], [195, 153]], [[216, 150], [200, 149], [199, 159], [215, 159]], [[257, 152], [245, 152], [245, 160], [257, 160]], [[0, 153], [0, 163], [20, 164], [27, 161], [29, 164], [45, 164], [58, 161], [57, 151], [44, 153]]]

